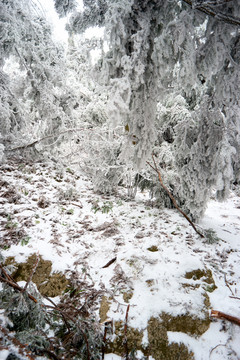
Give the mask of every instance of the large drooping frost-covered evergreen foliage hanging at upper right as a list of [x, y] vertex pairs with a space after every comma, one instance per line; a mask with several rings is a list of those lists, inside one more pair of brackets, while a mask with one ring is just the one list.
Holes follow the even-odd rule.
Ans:
[[[213, 187], [222, 199], [239, 181], [237, 2], [96, 0], [84, 6], [69, 29], [105, 26], [102, 82], [110, 92], [108, 116], [126, 129], [122, 156], [132, 153], [139, 168], [155, 150], [171, 170], [168, 186], [198, 218]], [[167, 154], [172, 160], [165, 164]]]

